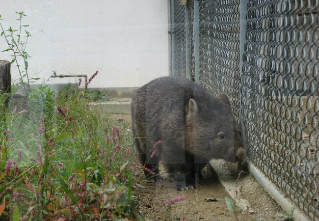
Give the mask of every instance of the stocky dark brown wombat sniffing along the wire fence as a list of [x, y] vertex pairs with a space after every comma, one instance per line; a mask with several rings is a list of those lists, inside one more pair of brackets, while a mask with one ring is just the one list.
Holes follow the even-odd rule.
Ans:
[[[185, 174], [178, 190], [199, 186], [198, 175], [212, 159], [244, 157], [239, 127], [226, 94], [215, 98], [190, 80], [162, 77], [140, 87], [132, 99], [133, 137], [147, 179]], [[154, 145], [154, 144], [158, 145]]]

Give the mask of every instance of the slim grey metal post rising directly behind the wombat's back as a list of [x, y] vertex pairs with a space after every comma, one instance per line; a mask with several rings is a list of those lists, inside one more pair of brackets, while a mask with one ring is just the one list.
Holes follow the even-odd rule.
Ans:
[[199, 83], [199, 0], [194, 0], [195, 82]]

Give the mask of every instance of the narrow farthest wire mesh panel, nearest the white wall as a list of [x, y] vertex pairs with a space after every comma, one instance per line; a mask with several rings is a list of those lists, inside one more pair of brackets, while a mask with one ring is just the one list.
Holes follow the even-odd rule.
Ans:
[[174, 65], [175, 76], [186, 78], [186, 7], [174, 0]]

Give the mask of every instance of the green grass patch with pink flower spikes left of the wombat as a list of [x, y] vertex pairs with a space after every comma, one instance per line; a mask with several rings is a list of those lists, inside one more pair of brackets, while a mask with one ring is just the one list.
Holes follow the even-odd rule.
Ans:
[[40, 86], [27, 112], [1, 106], [0, 220], [143, 219], [132, 196], [130, 125], [88, 103], [82, 91], [54, 96]]

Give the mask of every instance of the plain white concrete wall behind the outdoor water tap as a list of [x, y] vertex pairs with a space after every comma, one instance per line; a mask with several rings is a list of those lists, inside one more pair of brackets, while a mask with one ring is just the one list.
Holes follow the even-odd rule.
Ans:
[[[167, 0], [5, 0], [4, 28], [29, 25], [29, 72], [43, 83], [51, 71], [99, 71], [89, 87], [135, 87], [168, 75]], [[0, 51], [6, 49], [0, 37]], [[10, 53], [0, 59], [11, 60]], [[15, 65], [11, 69], [16, 78]], [[53, 79], [50, 83], [75, 82]]]

